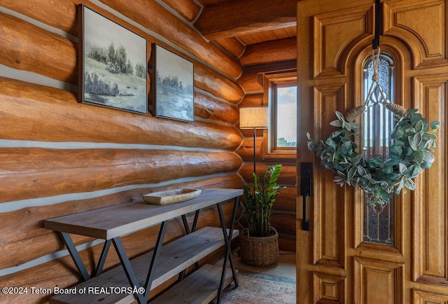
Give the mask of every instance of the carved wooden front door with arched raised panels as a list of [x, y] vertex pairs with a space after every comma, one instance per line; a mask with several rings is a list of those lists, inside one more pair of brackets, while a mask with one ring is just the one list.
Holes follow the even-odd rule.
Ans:
[[395, 103], [440, 121], [436, 160], [416, 179], [416, 191], [396, 195], [392, 244], [365, 242], [362, 191], [332, 181], [307, 149], [306, 132], [326, 139], [335, 130], [329, 125], [335, 111], [363, 103], [374, 0], [297, 1], [297, 172], [300, 163], [313, 163], [309, 231], [302, 230], [297, 193], [300, 304], [448, 303], [448, 0], [384, 0], [381, 6], [380, 48], [395, 63]]

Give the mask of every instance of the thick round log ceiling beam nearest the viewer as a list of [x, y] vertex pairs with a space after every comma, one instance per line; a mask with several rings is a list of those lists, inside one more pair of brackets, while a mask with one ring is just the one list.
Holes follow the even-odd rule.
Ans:
[[195, 27], [209, 39], [221, 39], [297, 24], [297, 0], [236, 0], [204, 8]]

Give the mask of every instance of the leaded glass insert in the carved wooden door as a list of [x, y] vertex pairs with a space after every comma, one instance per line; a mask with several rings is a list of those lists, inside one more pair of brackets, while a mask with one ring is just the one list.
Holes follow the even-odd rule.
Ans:
[[[373, 62], [370, 57], [363, 67], [364, 100], [372, 85], [374, 75]], [[388, 101], [393, 102], [393, 60], [386, 53], [379, 55], [378, 83], [386, 92]], [[393, 113], [386, 109], [380, 100], [379, 90], [374, 90], [363, 114], [361, 125], [363, 157], [388, 158], [391, 146], [390, 134], [393, 130]], [[379, 244], [393, 244], [393, 209], [394, 199], [389, 204], [369, 206], [369, 199], [364, 195], [363, 241]]]

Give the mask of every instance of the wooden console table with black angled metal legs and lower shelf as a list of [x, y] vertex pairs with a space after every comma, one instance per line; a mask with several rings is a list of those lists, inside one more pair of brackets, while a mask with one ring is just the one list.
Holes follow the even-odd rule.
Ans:
[[[67, 292], [70, 293], [52, 296], [50, 303], [132, 303], [135, 299], [139, 303], [146, 303], [152, 289], [178, 274], [181, 282], [174, 288], [181, 284], [194, 285], [194, 282], [188, 282], [188, 279], [197, 282], [197, 279], [205, 278], [205, 281], [210, 283], [201, 283], [197, 286], [204, 288], [205, 293], [200, 294], [195, 290], [195, 303], [207, 303], [215, 296], [218, 296], [219, 303], [221, 291], [225, 285], [233, 280], [238, 286], [230, 242], [239, 234], [238, 230], [233, 230], [233, 226], [239, 196], [242, 194], [241, 189], [202, 189], [197, 198], [172, 205], [160, 206], [134, 202], [45, 220], [45, 228], [55, 230], [62, 235], [76, 268], [84, 279], [84, 282], [68, 289]], [[230, 227], [226, 228], [221, 203], [228, 200], [234, 200], [235, 204]], [[196, 230], [200, 209], [213, 205], [216, 205], [218, 209], [221, 228], [204, 227]], [[195, 212], [195, 218], [190, 229], [186, 214], [193, 212]], [[179, 216], [183, 220], [186, 235], [162, 246], [168, 221]], [[120, 237], [158, 224], [161, 226], [155, 249], [130, 261]], [[105, 240], [102, 254], [99, 256], [92, 276], [87, 272], [70, 233]], [[111, 244], [116, 249], [121, 265], [102, 273]], [[197, 262], [201, 258], [222, 246], [226, 248], [222, 268], [211, 265], [199, 267]], [[226, 274], [228, 263], [232, 270], [231, 274]], [[185, 270], [190, 265], [196, 265], [197, 270], [183, 279]], [[211, 282], [216, 275], [218, 277], [221, 275], [221, 280], [216, 279], [216, 282]], [[189, 285], [190, 288], [193, 285]], [[169, 296], [176, 294], [181, 296], [182, 300], [185, 300], [187, 296], [175, 290], [169, 293]], [[166, 294], [162, 296], [166, 297]], [[154, 301], [157, 302], [158, 298]]]

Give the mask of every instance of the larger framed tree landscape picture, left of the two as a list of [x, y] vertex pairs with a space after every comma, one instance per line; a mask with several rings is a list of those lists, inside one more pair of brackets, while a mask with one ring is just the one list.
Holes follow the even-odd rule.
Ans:
[[147, 115], [146, 39], [84, 4], [78, 18], [78, 102]]

